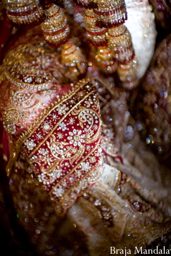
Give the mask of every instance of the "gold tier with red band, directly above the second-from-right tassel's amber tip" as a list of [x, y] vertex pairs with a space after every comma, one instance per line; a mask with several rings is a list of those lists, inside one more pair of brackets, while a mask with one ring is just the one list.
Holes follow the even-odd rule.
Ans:
[[85, 24], [85, 30], [86, 34], [85, 37], [87, 37], [88, 42], [90, 42], [91, 45], [98, 47], [98, 46], [104, 46], [107, 45], [106, 41], [106, 28], [98, 28], [95, 20], [94, 11], [92, 9], [85, 10], [84, 13], [84, 24]]

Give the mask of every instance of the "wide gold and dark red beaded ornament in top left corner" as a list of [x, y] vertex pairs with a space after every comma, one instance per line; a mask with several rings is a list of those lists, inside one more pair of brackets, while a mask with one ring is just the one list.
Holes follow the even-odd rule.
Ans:
[[7, 16], [17, 26], [36, 26], [45, 19], [39, 0], [2, 0]]

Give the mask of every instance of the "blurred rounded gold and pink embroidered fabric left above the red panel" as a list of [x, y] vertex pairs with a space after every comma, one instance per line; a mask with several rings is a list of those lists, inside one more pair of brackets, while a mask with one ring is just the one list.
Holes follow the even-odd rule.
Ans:
[[[58, 59], [59, 54], [55, 55], [42, 42], [21, 45], [7, 53], [1, 67], [0, 83], [7, 80], [11, 84], [10, 97], [2, 109], [8, 133], [15, 134], [18, 128], [23, 128], [30, 113], [41, 103], [42, 95], [53, 96], [54, 90], [61, 87], [64, 76], [60, 73]], [[58, 75], [55, 75], [56, 71]]]

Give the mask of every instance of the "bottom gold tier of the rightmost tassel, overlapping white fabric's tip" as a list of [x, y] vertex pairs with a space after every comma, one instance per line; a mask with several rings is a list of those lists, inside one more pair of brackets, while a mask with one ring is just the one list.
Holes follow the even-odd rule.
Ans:
[[119, 79], [122, 82], [122, 87], [126, 90], [131, 90], [138, 85], [137, 81], [137, 69], [136, 63], [134, 61], [130, 61], [126, 64], [120, 64], [117, 67]]

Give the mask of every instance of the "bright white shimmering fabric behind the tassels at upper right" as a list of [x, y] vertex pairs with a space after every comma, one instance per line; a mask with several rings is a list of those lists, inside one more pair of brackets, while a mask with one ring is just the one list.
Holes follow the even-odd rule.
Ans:
[[126, 6], [129, 19], [125, 25], [131, 33], [137, 61], [137, 77], [141, 79], [150, 64], [156, 44], [154, 13], [146, 0], [126, 0]]

